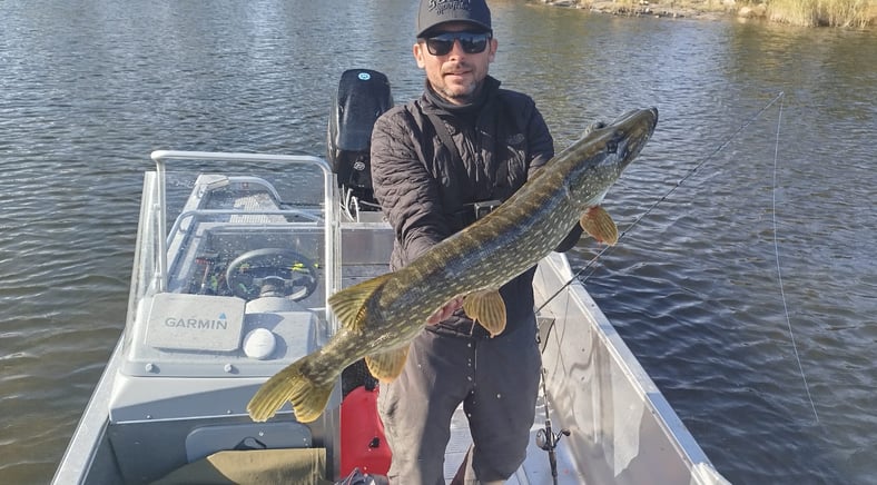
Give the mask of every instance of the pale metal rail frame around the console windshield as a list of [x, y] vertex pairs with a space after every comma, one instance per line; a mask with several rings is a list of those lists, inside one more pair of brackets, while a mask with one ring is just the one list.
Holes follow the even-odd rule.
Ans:
[[[314, 258], [314, 263], [318, 261], [319, 277], [316, 278], [317, 283], [315, 285], [317, 289], [315, 290], [315, 297], [318, 294], [323, 298], [318, 298], [319, 303], [309, 304], [307, 308], [302, 307], [300, 309], [319, 315], [321, 319], [324, 319], [323, 325], [323, 325], [321, 327], [326, 331], [326, 337], [337, 331], [337, 320], [329, 308], [326, 307], [324, 300], [325, 296], [336, 293], [342, 285], [341, 224], [339, 208], [336, 207], [335, 202], [336, 182], [335, 175], [325, 160], [313, 156], [178, 150], [154, 151], [150, 157], [155, 161], [156, 170], [147, 171], [144, 180], [140, 221], [131, 271], [128, 317], [125, 331], [126, 364], [124, 367], [138, 375], [150, 373], [141, 368], [144, 367], [144, 362], [141, 362], [144, 354], [137, 348], [144, 348], [146, 345], [142, 340], [147, 336], [145, 328], [150, 318], [149, 313], [152, 303], [157, 301], [157, 297], [191, 293], [181, 289], [179, 275], [175, 276], [178, 271], [175, 268], [179, 266], [179, 261], [171, 258], [178, 258], [178, 254], [184, 253], [189, 254], [187, 258], [191, 258], [191, 250], [186, 248], [188, 242], [180, 242], [180, 240], [191, 239], [190, 237], [183, 237], [183, 235], [187, 231], [193, 231], [191, 226], [195, 222], [191, 220], [197, 217], [206, 216], [208, 219], [210, 217], [230, 217], [247, 220], [248, 222], [238, 224], [236, 226], [237, 230], [243, 228], [246, 232], [247, 228], [252, 226], [254, 228], [252, 231], [253, 236], [263, 229], [268, 231], [276, 230], [279, 231], [277, 234], [283, 236], [283, 230], [286, 226], [303, 228], [302, 230], [315, 241], [308, 246], [309, 254], [306, 254], [306, 256]], [[177, 168], [179, 168], [186, 175], [193, 174], [197, 176], [198, 180], [195, 182], [195, 186], [193, 187], [188, 180], [180, 181], [169, 177], [168, 168], [170, 166], [173, 166], [175, 175]], [[293, 179], [294, 177], [299, 177], [299, 174], [304, 174], [309, 184], [307, 206], [299, 208], [295, 204], [283, 201], [272, 182], [265, 179], [253, 176], [225, 175], [230, 170], [250, 174], [252, 169], [248, 169], [250, 166], [265, 168], [265, 171], [270, 174], [277, 172], [286, 179]], [[311, 187], [312, 185], [317, 185], [317, 177], [321, 178], [319, 184], [322, 187]], [[168, 202], [168, 184], [174, 184], [174, 187], [181, 185], [191, 192], [189, 196], [191, 198], [199, 195], [199, 191], [211, 190], [214, 185], [221, 190], [223, 185], [228, 185], [229, 181], [237, 185], [245, 184], [249, 187], [258, 186], [265, 192], [267, 199], [282, 202], [278, 204], [282, 207], [267, 211], [253, 210], [250, 208], [242, 209], [239, 207], [226, 211], [184, 208], [179, 215], [170, 214], [169, 207], [171, 205]], [[313, 194], [311, 189], [313, 189]], [[176, 207], [176, 199], [183, 194], [177, 194], [177, 190], [175, 190], [173, 195], [174, 206]], [[282, 222], [276, 222], [278, 219]], [[286, 222], [286, 219], [295, 219], [299, 222]], [[260, 220], [265, 222], [259, 222]], [[169, 222], [170, 227], [168, 227]], [[321, 251], [322, 254], [318, 254]], [[191, 271], [191, 268], [188, 270]], [[190, 295], [190, 297], [207, 298], [196, 295]], [[214, 298], [236, 299], [236, 297], [218, 296]], [[239, 301], [243, 308], [244, 299], [239, 299]], [[286, 304], [294, 305], [295, 301], [287, 299]], [[238, 304], [233, 301], [234, 305]], [[277, 364], [279, 365], [280, 363], [278, 362]], [[266, 372], [269, 372], [269, 369], [260, 369], [257, 374]], [[243, 375], [247, 374], [249, 373], [245, 372]]]

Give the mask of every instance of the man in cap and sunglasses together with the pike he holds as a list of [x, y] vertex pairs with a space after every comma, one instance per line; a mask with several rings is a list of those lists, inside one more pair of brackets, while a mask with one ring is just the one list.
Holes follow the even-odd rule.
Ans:
[[331, 295], [338, 330], [265, 382], [247, 412], [264, 422], [292, 403], [298, 422], [314, 422], [343, 370], [365, 358], [381, 380], [392, 483], [444, 483], [461, 404], [473, 446], [457, 475], [502, 483], [524, 461], [535, 414], [535, 265], [582, 229], [618, 241], [600, 204], [658, 110], [592, 126], [554, 156], [533, 100], [487, 76], [497, 42], [484, 0], [422, 0], [416, 37], [424, 93], [372, 132], [374, 194], [395, 231], [392, 271]]

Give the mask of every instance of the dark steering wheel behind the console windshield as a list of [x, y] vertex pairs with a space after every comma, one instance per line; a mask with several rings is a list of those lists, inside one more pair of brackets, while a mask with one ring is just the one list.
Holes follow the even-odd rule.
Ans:
[[317, 267], [290, 249], [263, 248], [238, 256], [225, 271], [228, 289], [250, 300], [260, 296], [286, 296], [293, 301], [317, 289]]

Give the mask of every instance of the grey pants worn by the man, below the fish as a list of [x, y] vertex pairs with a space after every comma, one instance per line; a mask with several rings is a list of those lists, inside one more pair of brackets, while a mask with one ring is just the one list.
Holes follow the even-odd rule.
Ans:
[[535, 321], [496, 338], [421, 333], [402, 375], [381, 385], [378, 410], [393, 452], [391, 483], [444, 485], [451, 417], [460, 403], [479, 479], [508, 479], [526, 455], [540, 368]]

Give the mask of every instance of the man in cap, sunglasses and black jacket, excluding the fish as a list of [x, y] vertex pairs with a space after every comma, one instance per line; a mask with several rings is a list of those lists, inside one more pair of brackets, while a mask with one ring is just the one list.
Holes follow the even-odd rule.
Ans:
[[[487, 75], [497, 41], [484, 0], [422, 0], [416, 38], [424, 93], [384, 113], [372, 135], [374, 191], [396, 236], [392, 269], [485, 215], [554, 155], [533, 100], [500, 89]], [[577, 225], [558, 249], [568, 250], [580, 235]], [[450, 301], [412, 342], [402, 375], [382, 385], [392, 483], [445, 483], [451, 417], [461, 403], [477, 481], [503, 483], [521, 465], [541, 366], [533, 274], [501, 288], [502, 334], [490, 338], [465, 316], [462, 299]]]

